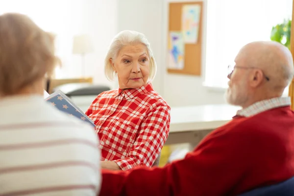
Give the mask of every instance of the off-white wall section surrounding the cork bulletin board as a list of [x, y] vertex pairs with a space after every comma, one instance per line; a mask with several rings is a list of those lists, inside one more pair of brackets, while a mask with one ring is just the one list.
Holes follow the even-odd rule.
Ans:
[[[153, 81], [155, 90], [171, 106], [224, 103], [223, 92], [202, 86], [202, 76], [170, 74], [167, 66], [168, 3], [171, 0], [119, 0], [118, 30], [131, 29], [144, 33], [151, 43], [158, 72]], [[189, 0], [177, 0], [189, 1]], [[204, 13], [205, 15], [206, 13]], [[205, 17], [204, 17], [205, 21]], [[205, 23], [204, 23], [205, 27]], [[205, 35], [205, 28], [203, 35]], [[205, 36], [203, 36], [202, 71], [205, 70]]]

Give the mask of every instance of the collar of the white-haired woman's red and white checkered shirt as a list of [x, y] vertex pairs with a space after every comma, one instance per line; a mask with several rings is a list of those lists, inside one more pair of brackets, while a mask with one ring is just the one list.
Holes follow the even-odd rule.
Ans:
[[125, 90], [118, 89], [116, 93], [114, 94], [114, 97], [116, 98], [118, 96], [123, 96], [126, 99], [130, 99], [130, 98], [138, 97], [139, 95], [146, 94], [152, 90], [153, 90], [153, 86], [151, 83], [148, 82], [137, 89], [125, 89]]

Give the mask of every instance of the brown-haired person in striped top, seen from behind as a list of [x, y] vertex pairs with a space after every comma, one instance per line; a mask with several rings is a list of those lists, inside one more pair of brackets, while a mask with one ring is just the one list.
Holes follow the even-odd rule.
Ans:
[[0, 195], [96, 196], [95, 130], [43, 98], [53, 37], [21, 14], [0, 15]]

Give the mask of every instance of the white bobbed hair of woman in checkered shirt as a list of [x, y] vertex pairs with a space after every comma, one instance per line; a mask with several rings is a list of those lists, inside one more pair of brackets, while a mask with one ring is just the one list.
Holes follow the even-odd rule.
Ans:
[[110, 59], [115, 59], [120, 50], [124, 46], [128, 45], [136, 45], [136, 44], [143, 44], [147, 48], [147, 55], [150, 59], [150, 71], [148, 80], [152, 81], [156, 74], [156, 62], [152, 53], [152, 50], [150, 48], [150, 43], [148, 42], [146, 36], [143, 33], [139, 33], [137, 31], [130, 31], [130, 30], [124, 30], [118, 33], [113, 40], [111, 41], [110, 47], [108, 49], [105, 61], [104, 61], [104, 72], [105, 76], [108, 80], [112, 81], [116, 75], [114, 73], [112, 64], [110, 63]]

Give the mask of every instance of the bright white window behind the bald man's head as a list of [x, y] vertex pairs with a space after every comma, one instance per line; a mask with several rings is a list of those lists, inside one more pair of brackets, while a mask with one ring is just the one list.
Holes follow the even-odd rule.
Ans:
[[239, 49], [270, 41], [272, 26], [284, 19], [292, 19], [292, 0], [207, 0], [205, 85], [226, 88]]

